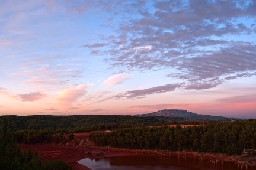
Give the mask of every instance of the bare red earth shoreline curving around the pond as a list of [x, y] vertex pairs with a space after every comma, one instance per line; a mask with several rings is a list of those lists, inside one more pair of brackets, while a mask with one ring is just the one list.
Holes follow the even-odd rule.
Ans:
[[228, 156], [214, 153], [199, 153], [188, 151], [161, 151], [161, 150], [140, 150], [140, 149], [121, 149], [112, 148], [110, 146], [89, 146], [87, 148], [72, 145], [54, 145], [54, 144], [19, 144], [22, 150], [31, 149], [37, 151], [39, 155], [46, 161], [50, 159], [62, 160], [72, 166], [74, 170], [85, 169], [87, 166], [79, 164], [77, 161], [85, 158], [98, 159], [110, 158], [114, 156], [129, 156], [129, 155], [159, 155], [162, 157], [167, 156], [180, 156], [183, 158], [194, 158], [205, 161], [213, 165], [223, 165], [223, 162], [232, 162], [238, 166], [238, 169], [256, 169], [256, 164], [251, 164], [248, 161], [240, 161], [241, 156]]

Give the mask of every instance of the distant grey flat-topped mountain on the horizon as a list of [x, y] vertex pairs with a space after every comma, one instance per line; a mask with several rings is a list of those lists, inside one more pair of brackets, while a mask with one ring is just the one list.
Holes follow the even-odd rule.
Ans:
[[200, 115], [193, 112], [188, 112], [187, 110], [180, 110], [180, 109], [163, 109], [158, 110], [157, 112], [152, 113], [146, 113], [146, 114], [140, 114], [135, 116], [142, 116], [142, 117], [148, 117], [148, 116], [162, 116], [162, 117], [181, 117], [183, 119], [188, 120], [220, 120], [220, 121], [231, 121], [231, 120], [238, 120], [238, 119], [230, 119], [223, 116], [212, 116], [212, 115]]

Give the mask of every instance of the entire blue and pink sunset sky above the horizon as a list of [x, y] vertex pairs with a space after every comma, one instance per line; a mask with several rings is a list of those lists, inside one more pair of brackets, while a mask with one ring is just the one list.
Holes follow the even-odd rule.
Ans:
[[0, 4], [0, 115], [256, 118], [255, 0]]

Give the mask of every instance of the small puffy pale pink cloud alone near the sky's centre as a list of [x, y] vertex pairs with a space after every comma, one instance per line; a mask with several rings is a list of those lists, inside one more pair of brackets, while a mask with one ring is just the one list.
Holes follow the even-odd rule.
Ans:
[[121, 84], [124, 82], [124, 80], [130, 79], [131, 77], [132, 76], [130, 76], [129, 74], [124, 73], [113, 74], [112, 76], [108, 77], [107, 80], [104, 81], [104, 84], [108, 87], [111, 87], [116, 84]]

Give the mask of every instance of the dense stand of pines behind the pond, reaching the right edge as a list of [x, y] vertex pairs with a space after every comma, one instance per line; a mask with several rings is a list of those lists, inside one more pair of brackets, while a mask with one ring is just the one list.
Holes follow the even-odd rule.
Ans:
[[241, 154], [255, 149], [256, 120], [207, 123], [205, 126], [134, 127], [98, 132], [89, 136], [96, 145], [130, 149], [163, 149]]

